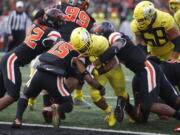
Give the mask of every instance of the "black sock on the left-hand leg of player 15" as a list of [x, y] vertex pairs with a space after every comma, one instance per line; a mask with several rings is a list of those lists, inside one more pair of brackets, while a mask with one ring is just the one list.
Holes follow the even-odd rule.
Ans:
[[25, 98], [20, 98], [17, 103], [17, 112], [16, 112], [16, 118], [19, 120], [22, 120], [23, 113], [26, 110], [28, 105], [28, 100]]

